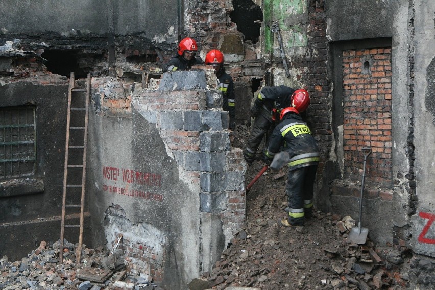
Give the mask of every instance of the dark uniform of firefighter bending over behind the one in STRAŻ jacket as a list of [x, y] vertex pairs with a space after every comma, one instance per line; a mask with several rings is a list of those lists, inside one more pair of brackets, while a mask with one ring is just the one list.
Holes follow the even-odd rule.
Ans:
[[[302, 91], [308, 94], [306, 90]], [[252, 164], [255, 160], [261, 140], [270, 129], [273, 129], [272, 125], [279, 117], [280, 110], [291, 106], [291, 96], [294, 92], [293, 88], [287, 86], [265, 86], [261, 89], [249, 111], [251, 117], [254, 118], [254, 125], [243, 150], [243, 156], [248, 164]], [[265, 141], [265, 147], [267, 147], [269, 138]], [[260, 159], [264, 159], [264, 153]]]

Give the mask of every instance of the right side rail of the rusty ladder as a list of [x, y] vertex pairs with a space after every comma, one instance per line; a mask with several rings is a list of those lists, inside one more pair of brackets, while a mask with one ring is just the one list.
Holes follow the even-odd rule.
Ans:
[[82, 257], [83, 245], [83, 224], [84, 224], [84, 208], [85, 208], [85, 182], [86, 182], [86, 150], [88, 140], [88, 122], [89, 122], [89, 99], [90, 99], [90, 74], [86, 86], [86, 105], [85, 105], [85, 132], [83, 138], [83, 167], [82, 167], [82, 196], [80, 207], [80, 232], [79, 232], [79, 247], [76, 251], [76, 264], [80, 263]]

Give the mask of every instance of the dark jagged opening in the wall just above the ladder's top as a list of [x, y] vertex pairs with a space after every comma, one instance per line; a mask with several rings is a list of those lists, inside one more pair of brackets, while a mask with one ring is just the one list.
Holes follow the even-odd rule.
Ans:
[[76, 50], [45, 50], [41, 56], [47, 60], [45, 65], [53, 74], [69, 78], [74, 72], [75, 78], [86, 78], [86, 72], [77, 63], [77, 53]]

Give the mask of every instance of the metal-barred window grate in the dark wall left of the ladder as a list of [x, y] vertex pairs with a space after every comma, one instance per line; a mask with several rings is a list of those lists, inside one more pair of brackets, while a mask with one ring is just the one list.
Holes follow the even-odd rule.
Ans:
[[32, 176], [36, 166], [35, 108], [0, 108], [0, 179]]

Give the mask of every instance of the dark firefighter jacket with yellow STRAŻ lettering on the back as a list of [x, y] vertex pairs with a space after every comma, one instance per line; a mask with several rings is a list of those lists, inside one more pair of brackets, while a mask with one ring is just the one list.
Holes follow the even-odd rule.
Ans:
[[268, 160], [272, 160], [283, 146], [283, 150], [290, 154], [289, 170], [310, 166], [319, 162], [320, 153], [316, 140], [311, 135], [307, 124], [300, 115], [287, 113], [275, 127], [269, 147], [266, 151]]

